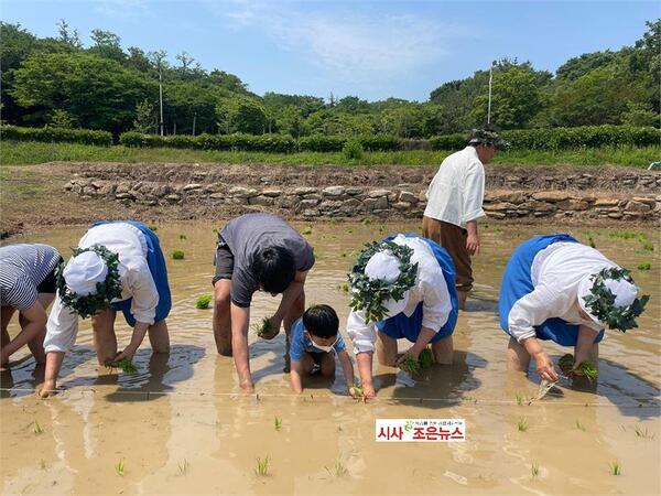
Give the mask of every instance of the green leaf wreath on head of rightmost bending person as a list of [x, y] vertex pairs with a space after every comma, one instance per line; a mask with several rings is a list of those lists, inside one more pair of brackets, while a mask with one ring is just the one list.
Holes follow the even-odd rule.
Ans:
[[603, 322], [609, 328], [626, 332], [628, 328], [638, 327], [636, 317], [642, 313], [650, 296], [646, 294], [644, 296], [637, 298], [629, 306], [616, 306], [615, 294], [606, 285], [607, 279], [615, 281], [624, 279], [633, 284], [633, 280], [627, 269], [617, 267], [603, 269], [590, 278], [593, 287], [590, 294], [583, 298], [585, 306], [589, 309], [589, 312], [599, 322]]

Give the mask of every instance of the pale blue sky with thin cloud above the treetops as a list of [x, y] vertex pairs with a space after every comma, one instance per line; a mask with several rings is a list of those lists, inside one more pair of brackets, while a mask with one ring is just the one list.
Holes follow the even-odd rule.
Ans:
[[1, 0], [0, 17], [39, 36], [65, 19], [89, 44], [186, 51], [258, 94], [425, 100], [496, 58], [555, 71], [572, 56], [631, 45], [658, 1]]

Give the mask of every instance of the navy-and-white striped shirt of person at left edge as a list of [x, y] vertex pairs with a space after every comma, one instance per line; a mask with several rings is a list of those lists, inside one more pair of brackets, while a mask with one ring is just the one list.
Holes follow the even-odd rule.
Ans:
[[9, 245], [0, 248], [0, 302], [28, 310], [37, 287], [59, 262], [59, 252], [48, 245]]

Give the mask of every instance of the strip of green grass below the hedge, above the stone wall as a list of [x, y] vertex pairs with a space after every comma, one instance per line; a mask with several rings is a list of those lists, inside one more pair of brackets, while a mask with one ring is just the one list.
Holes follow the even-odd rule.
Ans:
[[[560, 151], [511, 150], [496, 155], [494, 163], [511, 165], [626, 165], [647, 168], [659, 160], [659, 147], [604, 147]], [[435, 165], [451, 152], [391, 151], [365, 152], [358, 160], [347, 159], [342, 152], [263, 153], [178, 150], [172, 148], [139, 149], [126, 147], [95, 147], [73, 143], [42, 143], [3, 141], [0, 147], [1, 165], [26, 165], [53, 161], [69, 162], [169, 162], [169, 163], [264, 163], [286, 165]]]

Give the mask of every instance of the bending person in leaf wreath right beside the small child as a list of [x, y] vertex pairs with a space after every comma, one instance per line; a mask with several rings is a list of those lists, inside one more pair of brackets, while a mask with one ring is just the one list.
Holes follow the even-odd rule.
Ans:
[[[366, 398], [373, 398], [372, 355], [395, 366], [418, 359], [431, 343], [435, 362], [452, 364], [458, 301], [452, 258], [431, 239], [397, 235], [368, 246], [349, 274], [351, 308], [347, 333]], [[413, 343], [398, 358], [397, 341]]]

